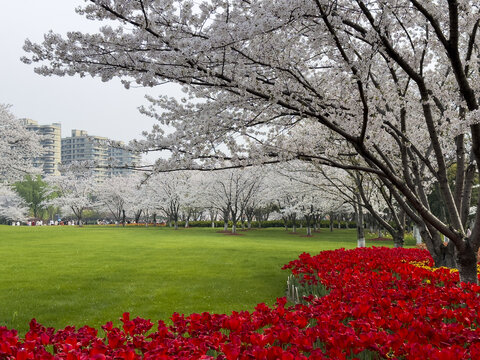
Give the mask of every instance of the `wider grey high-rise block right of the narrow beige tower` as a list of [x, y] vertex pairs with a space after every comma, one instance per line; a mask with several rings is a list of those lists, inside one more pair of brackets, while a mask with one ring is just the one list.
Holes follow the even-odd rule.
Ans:
[[[108, 138], [88, 135], [85, 130], [72, 130], [72, 136], [62, 139], [62, 164], [74, 161], [94, 161], [97, 178], [122, 175], [131, 170], [122, 166], [140, 164], [140, 155], [108, 144]], [[122, 143], [119, 143], [120, 145]]]

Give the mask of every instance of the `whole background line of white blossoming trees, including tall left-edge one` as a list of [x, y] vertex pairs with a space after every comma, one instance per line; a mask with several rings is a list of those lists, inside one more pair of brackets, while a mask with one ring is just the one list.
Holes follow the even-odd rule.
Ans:
[[[27, 132], [6, 107], [4, 110], [1, 145], [8, 147], [10, 152], [5, 151], [2, 158], [8, 178], [2, 181], [0, 217], [6, 220], [27, 218], [27, 206], [33, 209], [30, 215], [37, 218], [42, 206], [50, 206], [54, 209], [53, 213], [74, 217], [78, 223], [84, 220], [87, 210], [95, 210], [117, 223], [124, 223], [127, 217], [136, 223], [140, 220], [148, 222], [149, 218], [155, 222], [159, 215], [175, 227], [178, 227], [179, 220], [185, 221], [188, 226], [190, 220], [209, 218], [214, 224], [215, 220], [221, 218], [224, 230], [227, 230], [230, 220], [232, 231], [235, 232], [239, 220], [242, 220], [242, 224], [245, 220], [247, 226], [251, 227], [254, 219], [261, 222], [275, 212], [286, 227], [287, 224], [292, 225], [293, 231], [296, 230], [297, 221], [304, 220], [307, 234], [311, 235], [312, 229], [326, 215], [331, 220], [335, 216], [348, 220], [354, 209], [355, 219], [361, 224], [359, 216], [367, 209], [365, 204], [356, 202], [351, 196], [357, 189], [350, 178], [351, 174], [338, 169], [307, 166], [298, 161], [291, 161], [284, 166], [256, 166], [243, 170], [180, 171], [149, 174], [147, 177], [137, 173], [101, 181], [88, 168], [92, 164], [77, 163], [61, 167], [60, 177], [50, 176], [43, 180], [27, 177], [27, 180], [18, 182], [25, 174], [38, 173], [39, 169], [32, 166], [34, 157], [30, 154], [34, 153], [37, 157], [41, 155], [41, 138]], [[6, 184], [14, 186], [12, 188]], [[35, 192], [35, 196], [32, 196], [35, 199], [22, 199], [15, 193], [14, 190], [21, 189], [19, 184], [28, 188], [27, 193]], [[30, 189], [32, 184], [37, 187], [36, 190]], [[348, 189], [350, 193], [346, 191]], [[386, 203], [378, 198], [373, 203], [377, 212], [372, 209], [370, 212], [382, 214], [383, 218], [380, 215], [377, 217], [388, 227], [385, 220], [388, 215], [385, 217], [385, 211], [382, 210], [386, 209]], [[358, 206], [360, 208], [357, 209]], [[363, 226], [359, 228], [363, 229]], [[359, 235], [359, 244], [364, 244], [363, 235]]]

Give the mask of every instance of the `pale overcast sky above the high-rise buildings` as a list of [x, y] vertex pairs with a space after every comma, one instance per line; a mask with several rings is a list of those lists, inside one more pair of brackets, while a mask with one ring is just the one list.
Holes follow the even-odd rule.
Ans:
[[40, 124], [60, 122], [62, 136], [70, 136], [72, 129], [82, 129], [125, 142], [141, 138], [141, 132], [155, 123], [137, 110], [147, 103], [145, 93], [180, 96], [178, 87], [126, 90], [116, 79], [104, 83], [92, 78], [43, 77], [34, 73], [32, 65], [20, 61], [26, 38], [39, 42], [49, 30], [63, 34], [98, 28], [98, 22], [75, 12], [84, 3], [0, 0], [0, 103], [12, 105], [12, 112], [19, 118], [31, 118]]

